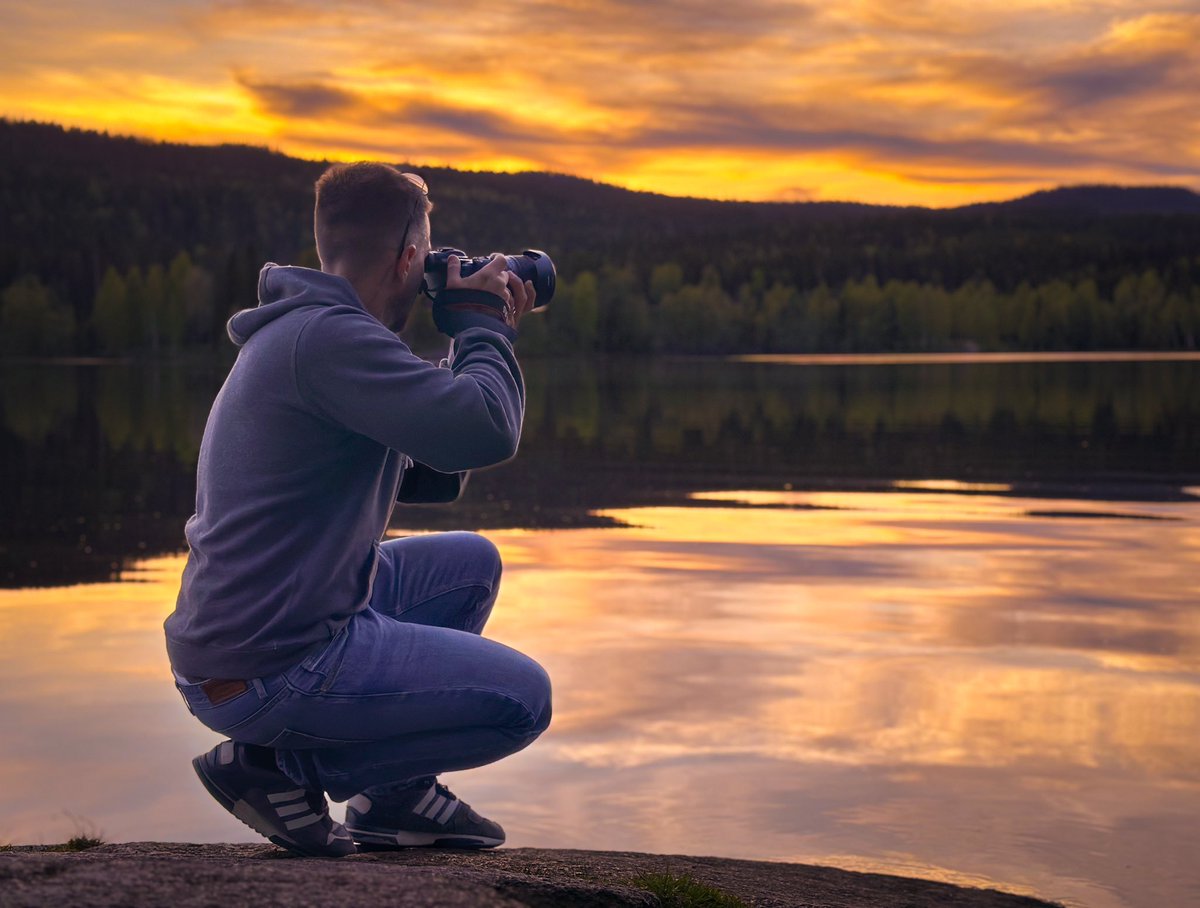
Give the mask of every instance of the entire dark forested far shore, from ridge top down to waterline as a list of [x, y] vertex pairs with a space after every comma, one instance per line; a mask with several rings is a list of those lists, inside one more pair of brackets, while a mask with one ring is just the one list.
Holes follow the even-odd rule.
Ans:
[[[0, 120], [0, 353], [218, 345], [264, 260], [313, 265], [325, 167]], [[434, 242], [523, 246], [538, 351], [1194, 349], [1200, 196], [1076, 187], [948, 211], [722, 203], [421, 168]], [[410, 330], [434, 345], [427, 312]]]

